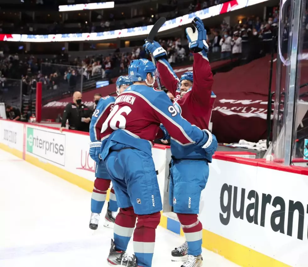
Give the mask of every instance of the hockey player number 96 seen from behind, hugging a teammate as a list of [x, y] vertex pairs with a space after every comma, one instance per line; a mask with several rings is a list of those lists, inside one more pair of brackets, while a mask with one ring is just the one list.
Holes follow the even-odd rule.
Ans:
[[[152, 87], [155, 72], [155, 65], [146, 59], [130, 63], [129, 78], [133, 85], [117, 97], [102, 126], [100, 155], [106, 161], [120, 207], [107, 258], [112, 266], [152, 265], [162, 201], [151, 147], [153, 140], [163, 133], [160, 123], [176, 140], [174, 147], [178, 150], [196, 145], [211, 157], [217, 147], [214, 135], [184, 120], [164, 91]], [[129, 257], [125, 251], [133, 232], [135, 255]]]

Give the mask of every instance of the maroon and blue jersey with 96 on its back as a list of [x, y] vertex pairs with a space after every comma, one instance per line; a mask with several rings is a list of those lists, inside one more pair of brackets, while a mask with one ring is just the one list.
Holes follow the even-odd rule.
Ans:
[[164, 91], [146, 85], [131, 85], [116, 98], [112, 111], [102, 124], [102, 159], [109, 149], [125, 147], [151, 155], [151, 146], [161, 123], [179, 146], [203, 145], [207, 141], [203, 131], [181, 117]]

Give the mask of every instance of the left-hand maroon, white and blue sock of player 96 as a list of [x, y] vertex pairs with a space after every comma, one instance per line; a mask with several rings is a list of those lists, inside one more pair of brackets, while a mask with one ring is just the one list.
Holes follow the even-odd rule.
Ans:
[[117, 250], [126, 251], [128, 242], [133, 235], [137, 215], [133, 207], [120, 209], [113, 228], [113, 238]]

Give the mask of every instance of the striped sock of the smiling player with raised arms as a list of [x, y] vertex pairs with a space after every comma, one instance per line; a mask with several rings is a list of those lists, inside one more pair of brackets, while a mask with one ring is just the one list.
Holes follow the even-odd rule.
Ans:
[[188, 245], [188, 255], [198, 256], [202, 252], [202, 224], [197, 214], [177, 213]]

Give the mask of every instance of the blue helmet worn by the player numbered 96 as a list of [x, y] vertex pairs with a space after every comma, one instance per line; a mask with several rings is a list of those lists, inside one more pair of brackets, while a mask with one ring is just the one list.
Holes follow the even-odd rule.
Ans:
[[144, 58], [133, 60], [128, 67], [128, 76], [132, 82], [146, 81], [146, 75], [148, 73], [151, 73], [155, 80], [156, 66], [153, 62]]

